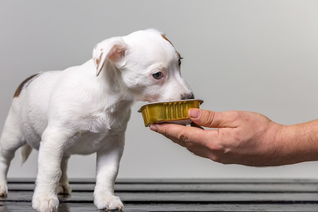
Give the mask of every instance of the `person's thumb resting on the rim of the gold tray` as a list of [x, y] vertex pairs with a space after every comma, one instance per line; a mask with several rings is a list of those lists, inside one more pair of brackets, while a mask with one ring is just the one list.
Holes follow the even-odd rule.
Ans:
[[214, 112], [192, 108], [188, 112], [189, 118], [197, 125], [209, 128], [224, 128], [233, 126], [233, 115], [228, 112]]

